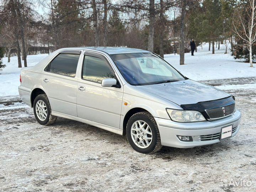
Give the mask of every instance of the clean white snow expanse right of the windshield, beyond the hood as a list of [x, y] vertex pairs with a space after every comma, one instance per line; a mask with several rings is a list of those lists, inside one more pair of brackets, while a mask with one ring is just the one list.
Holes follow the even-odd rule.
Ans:
[[255, 67], [251, 68], [249, 63], [235, 60], [231, 53], [224, 54], [224, 45], [220, 45], [220, 50], [215, 48], [215, 54], [212, 54], [212, 47], [208, 51], [208, 46], [206, 43], [203, 49], [197, 47], [195, 56], [186, 53], [185, 65], [180, 65], [180, 55], [177, 54], [167, 54], [164, 59], [187, 78], [195, 81], [256, 76]]

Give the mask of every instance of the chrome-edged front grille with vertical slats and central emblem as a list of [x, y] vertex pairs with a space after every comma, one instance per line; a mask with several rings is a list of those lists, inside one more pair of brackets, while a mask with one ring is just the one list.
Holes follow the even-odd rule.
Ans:
[[214, 109], [205, 110], [210, 119], [218, 119], [228, 116], [235, 112], [235, 103], [227, 105], [225, 107], [218, 107]]

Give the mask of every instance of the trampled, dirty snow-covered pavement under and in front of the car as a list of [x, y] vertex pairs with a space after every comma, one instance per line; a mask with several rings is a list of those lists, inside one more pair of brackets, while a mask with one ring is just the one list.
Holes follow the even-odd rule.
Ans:
[[63, 118], [42, 126], [33, 108], [0, 105], [0, 191], [255, 192], [256, 90], [235, 94], [235, 137], [150, 155], [124, 136]]

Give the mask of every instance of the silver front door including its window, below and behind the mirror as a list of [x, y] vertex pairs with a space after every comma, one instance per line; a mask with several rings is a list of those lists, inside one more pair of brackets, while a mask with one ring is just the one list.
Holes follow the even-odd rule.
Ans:
[[78, 78], [78, 117], [119, 128], [123, 87], [102, 87], [101, 81], [105, 78], [117, 79], [106, 57], [100, 53], [85, 52]]

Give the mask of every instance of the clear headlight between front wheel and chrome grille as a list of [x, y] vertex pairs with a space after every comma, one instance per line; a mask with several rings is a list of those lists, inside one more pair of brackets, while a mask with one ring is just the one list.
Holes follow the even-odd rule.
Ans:
[[173, 110], [166, 109], [172, 121], [177, 122], [198, 122], [206, 121], [202, 113], [199, 111]]

